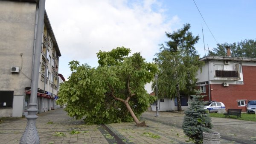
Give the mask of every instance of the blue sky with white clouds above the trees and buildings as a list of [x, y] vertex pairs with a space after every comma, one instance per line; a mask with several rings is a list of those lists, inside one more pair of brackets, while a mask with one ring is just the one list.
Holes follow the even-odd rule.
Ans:
[[201, 57], [208, 54], [204, 42], [211, 50], [217, 43], [255, 40], [255, 6], [255, 0], [46, 0], [45, 8], [62, 55], [59, 73], [67, 79], [68, 62], [96, 67], [99, 50], [124, 46], [152, 62], [168, 41], [165, 32], [185, 23], [200, 37], [195, 46]]

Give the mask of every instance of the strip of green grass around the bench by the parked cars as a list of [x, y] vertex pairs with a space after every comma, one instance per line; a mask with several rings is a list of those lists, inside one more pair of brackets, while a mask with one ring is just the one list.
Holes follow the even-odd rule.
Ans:
[[[209, 113], [210, 117], [216, 117], [216, 118], [225, 118], [225, 115], [222, 113]], [[248, 113], [241, 113], [242, 118], [238, 118], [239, 120], [244, 121], [256, 121], [256, 116], [254, 113], [248, 114]], [[226, 119], [236, 119], [236, 116], [230, 116], [230, 118], [227, 116]]]

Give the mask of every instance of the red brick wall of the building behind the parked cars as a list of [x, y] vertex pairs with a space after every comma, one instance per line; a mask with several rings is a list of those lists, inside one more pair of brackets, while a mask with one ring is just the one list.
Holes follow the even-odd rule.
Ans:
[[223, 102], [228, 108], [239, 108], [246, 111], [245, 107], [238, 107], [238, 99], [256, 99], [256, 66], [242, 66], [244, 85], [211, 84], [211, 100]]

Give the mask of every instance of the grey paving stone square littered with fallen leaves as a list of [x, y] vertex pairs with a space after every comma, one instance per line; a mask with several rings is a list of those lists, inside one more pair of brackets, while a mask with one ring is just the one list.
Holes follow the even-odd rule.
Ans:
[[[140, 117], [148, 127], [136, 127], [134, 122], [84, 125], [60, 108], [38, 114], [36, 126], [41, 144], [192, 144], [181, 128], [184, 114], [154, 115], [148, 111]], [[221, 144], [256, 144], [252, 138], [256, 137], [256, 122], [220, 118], [212, 122], [213, 130], [221, 134]], [[26, 118], [4, 120], [0, 124], [0, 144], [19, 144], [26, 123]]]

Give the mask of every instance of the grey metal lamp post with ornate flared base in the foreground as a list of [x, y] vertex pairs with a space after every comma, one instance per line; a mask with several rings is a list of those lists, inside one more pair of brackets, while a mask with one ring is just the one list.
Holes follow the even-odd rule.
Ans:
[[25, 132], [20, 138], [20, 144], [39, 144], [39, 136], [36, 130], [35, 120], [38, 118], [36, 113], [37, 109], [37, 92], [38, 92], [38, 77], [40, 68], [40, 56], [42, 48], [42, 36], [44, 28], [44, 11], [45, 11], [45, 0], [39, 0], [38, 6], [38, 25], [36, 31], [36, 41], [35, 41], [35, 56], [33, 58], [33, 72], [32, 72], [32, 83], [31, 83], [31, 95], [29, 102], [28, 120]]

